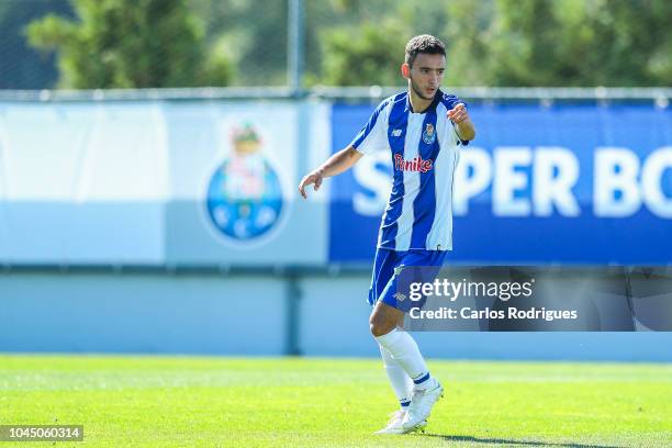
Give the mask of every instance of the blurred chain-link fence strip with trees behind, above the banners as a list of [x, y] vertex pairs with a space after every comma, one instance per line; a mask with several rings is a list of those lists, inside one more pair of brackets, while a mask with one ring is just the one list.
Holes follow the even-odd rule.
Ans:
[[292, 67], [305, 88], [402, 86], [422, 33], [446, 43], [450, 86], [665, 87], [671, 16], [668, 0], [0, 0], [0, 89], [281, 87]]

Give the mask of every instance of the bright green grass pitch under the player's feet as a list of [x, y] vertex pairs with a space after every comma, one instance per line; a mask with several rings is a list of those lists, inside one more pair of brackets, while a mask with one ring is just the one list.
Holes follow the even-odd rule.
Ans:
[[83, 424], [66, 447], [672, 447], [672, 365], [428, 363], [425, 434], [372, 435], [396, 408], [377, 359], [0, 355], [0, 424]]

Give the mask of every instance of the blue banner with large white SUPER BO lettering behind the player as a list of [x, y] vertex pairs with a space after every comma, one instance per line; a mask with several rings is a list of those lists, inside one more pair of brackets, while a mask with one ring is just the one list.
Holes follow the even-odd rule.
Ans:
[[[335, 104], [332, 150], [372, 104]], [[672, 111], [653, 104], [472, 104], [453, 198], [460, 264], [672, 264]], [[390, 154], [363, 157], [331, 187], [329, 260], [370, 262]]]

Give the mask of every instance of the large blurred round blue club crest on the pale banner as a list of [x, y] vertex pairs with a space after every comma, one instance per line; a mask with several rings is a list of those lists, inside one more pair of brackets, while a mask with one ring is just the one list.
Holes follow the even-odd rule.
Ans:
[[226, 238], [253, 242], [279, 222], [284, 208], [282, 183], [253, 125], [233, 132], [232, 147], [210, 178], [208, 214]]

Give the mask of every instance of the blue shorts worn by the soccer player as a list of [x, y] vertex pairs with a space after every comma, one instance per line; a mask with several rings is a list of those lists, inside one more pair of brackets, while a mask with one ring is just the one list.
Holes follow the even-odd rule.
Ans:
[[[376, 250], [376, 260], [373, 261], [371, 288], [369, 289], [369, 304], [374, 305], [381, 300], [390, 306], [407, 312], [413, 306], [413, 302], [407, 300], [408, 294], [405, 291], [407, 285], [400, 284], [402, 268], [404, 268], [404, 282], [406, 283], [410, 278], [414, 278], [417, 281], [432, 282], [444, 265], [447, 254], [447, 250], [391, 250], [378, 248]], [[435, 267], [436, 269], [423, 269], [417, 275], [406, 270], [408, 267], [414, 266]], [[400, 287], [404, 291], [401, 291]]]

